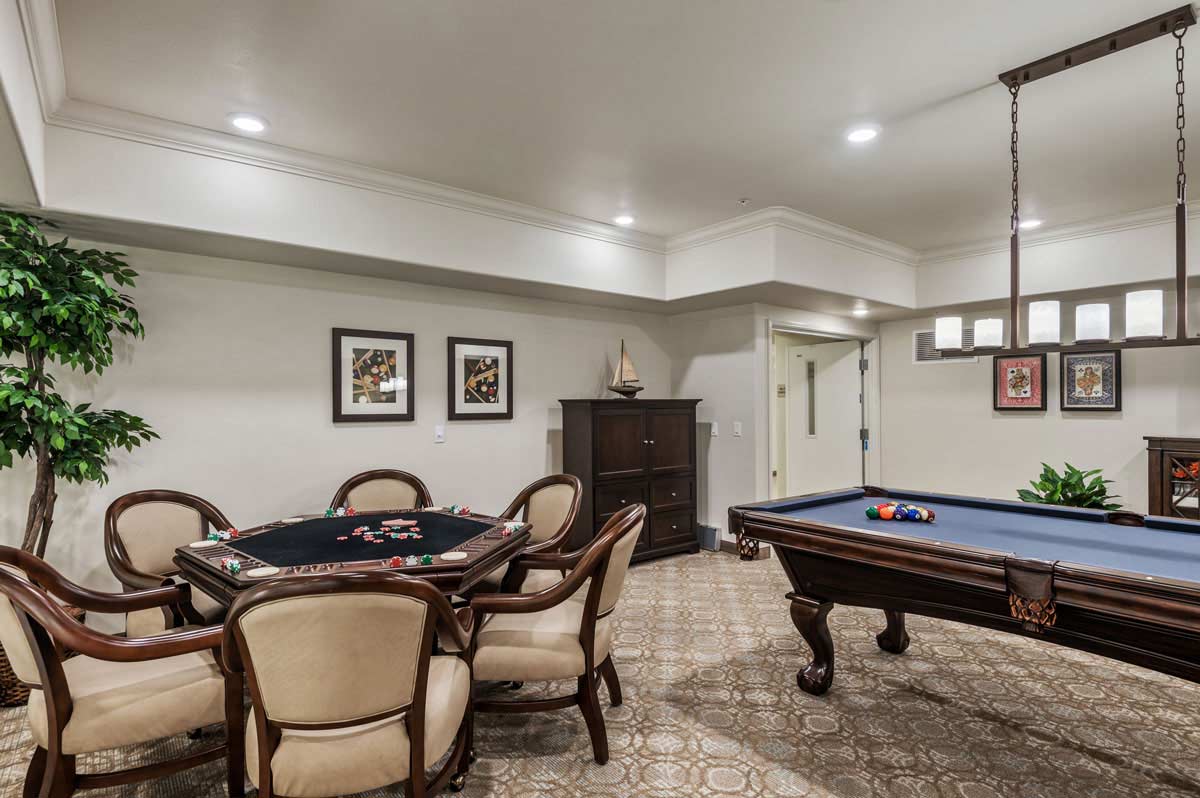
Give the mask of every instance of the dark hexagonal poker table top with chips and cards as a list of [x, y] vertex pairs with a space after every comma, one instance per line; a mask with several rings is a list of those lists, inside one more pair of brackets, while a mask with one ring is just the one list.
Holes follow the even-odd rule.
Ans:
[[262, 582], [341, 571], [395, 571], [451, 595], [515, 558], [530, 528], [440, 508], [307, 515], [240, 530], [236, 538], [180, 546], [174, 562], [184, 578], [227, 606]]

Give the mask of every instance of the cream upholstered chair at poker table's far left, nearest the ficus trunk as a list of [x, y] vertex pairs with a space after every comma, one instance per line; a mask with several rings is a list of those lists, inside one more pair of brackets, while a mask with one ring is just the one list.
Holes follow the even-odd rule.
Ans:
[[[211, 529], [229, 529], [229, 518], [210, 502], [180, 491], [136, 491], [119, 497], [104, 512], [104, 556], [127, 590], [144, 590], [184, 582], [175, 568], [175, 550], [202, 540]], [[214, 624], [224, 606], [203, 590], [191, 592], [191, 604], [176, 608], [184, 623]], [[132, 612], [126, 634], [144, 637], [178, 626], [166, 607]]]

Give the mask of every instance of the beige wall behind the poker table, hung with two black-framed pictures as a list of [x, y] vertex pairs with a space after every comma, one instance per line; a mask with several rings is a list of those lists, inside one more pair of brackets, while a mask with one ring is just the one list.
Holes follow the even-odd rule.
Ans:
[[[331, 256], [332, 257], [332, 256]], [[104, 508], [133, 490], [199, 493], [252, 526], [326, 506], [346, 476], [416, 472], [437, 502], [499, 512], [527, 482], [562, 467], [557, 400], [605, 395], [620, 338], [647, 396], [668, 396], [666, 320], [650, 314], [407, 284], [156, 251], [131, 251], [148, 334], [119, 347], [78, 401], [145, 416], [162, 434], [120, 452], [104, 487], [60, 488], [49, 559], [73, 578], [112, 586]], [[330, 329], [416, 335], [416, 420], [330, 421]], [[446, 424], [446, 336], [515, 342], [512, 421]], [[28, 468], [0, 472], [0, 541], [19, 541]]]

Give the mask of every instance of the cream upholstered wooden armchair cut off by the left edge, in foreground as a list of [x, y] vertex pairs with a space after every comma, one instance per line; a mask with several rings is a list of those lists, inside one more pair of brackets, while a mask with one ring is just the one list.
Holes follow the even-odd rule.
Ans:
[[[214, 656], [221, 628], [155, 637], [114, 637], [89, 629], [59, 601], [96, 613], [179, 605], [187, 584], [134, 593], [82, 588], [18, 548], [0, 546], [0, 643], [31, 691], [29, 728], [36, 748], [24, 796], [65, 798], [76, 790], [155, 779], [221, 758], [210, 746], [185, 757], [114, 773], [76, 773], [76, 757], [148, 743], [229, 718], [229, 794], [242, 794], [242, 692]], [[62, 649], [79, 653], [62, 658]]]

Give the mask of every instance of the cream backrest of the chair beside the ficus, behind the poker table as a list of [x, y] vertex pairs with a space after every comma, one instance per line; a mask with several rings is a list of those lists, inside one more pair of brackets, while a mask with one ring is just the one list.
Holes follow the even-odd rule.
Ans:
[[[108, 505], [104, 553], [118, 575], [121, 565], [144, 574], [173, 574], [175, 550], [204, 538], [210, 528], [233, 524], [211, 503], [180, 491], [137, 491]], [[114, 562], [115, 560], [115, 562]]]

